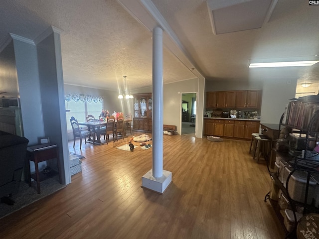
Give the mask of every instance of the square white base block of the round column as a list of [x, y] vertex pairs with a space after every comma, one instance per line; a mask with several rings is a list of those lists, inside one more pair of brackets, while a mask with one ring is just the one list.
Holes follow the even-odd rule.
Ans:
[[160, 194], [164, 193], [170, 183], [171, 172], [165, 170], [163, 170], [163, 175], [160, 178], [153, 177], [152, 169], [142, 177], [142, 188], [146, 188]]

